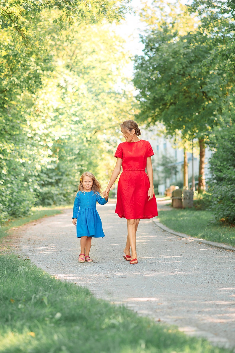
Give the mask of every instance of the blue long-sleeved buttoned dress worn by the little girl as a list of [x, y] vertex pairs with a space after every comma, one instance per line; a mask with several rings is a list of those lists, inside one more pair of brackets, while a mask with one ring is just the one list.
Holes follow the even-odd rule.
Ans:
[[104, 238], [100, 216], [96, 202], [104, 205], [108, 202], [93, 191], [79, 191], [74, 200], [73, 218], [77, 219], [77, 237]]

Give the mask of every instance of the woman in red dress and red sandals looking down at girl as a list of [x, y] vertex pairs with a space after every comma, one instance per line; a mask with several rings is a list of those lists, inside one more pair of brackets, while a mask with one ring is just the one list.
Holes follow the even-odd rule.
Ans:
[[151, 156], [154, 155], [154, 152], [148, 141], [138, 138], [141, 132], [135, 121], [126, 120], [120, 126], [122, 136], [126, 142], [118, 145], [115, 153], [117, 158], [116, 166], [103, 195], [104, 197], [109, 195], [111, 186], [117, 179], [122, 167], [123, 172], [118, 181], [115, 213], [121, 218], [126, 218], [127, 239], [123, 257], [130, 261], [131, 265], [134, 265], [138, 263], [136, 231], [140, 219], [152, 218], [158, 215], [151, 163]]

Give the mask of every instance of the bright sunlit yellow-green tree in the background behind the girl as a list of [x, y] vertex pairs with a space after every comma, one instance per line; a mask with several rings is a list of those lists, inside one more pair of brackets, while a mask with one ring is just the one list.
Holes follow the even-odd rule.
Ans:
[[[71, 200], [84, 170], [91, 170], [101, 181], [105, 178], [108, 156], [116, 144], [116, 139], [110, 143], [109, 136], [119, 116], [128, 115], [131, 104], [127, 102], [132, 100], [115, 88], [125, 61], [118, 43], [109, 26], [86, 25], [74, 34], [74, 43], [57, 50], [61, 64], [37, 98], [39, 122], [45, 117], [48, 121], [44, 148], [51, 152], [38, 173], [43, 181], [37, 189], [38, 203], [55, 203], [56, 195]], [[48, 89], [53, 92], [50, 102]]]

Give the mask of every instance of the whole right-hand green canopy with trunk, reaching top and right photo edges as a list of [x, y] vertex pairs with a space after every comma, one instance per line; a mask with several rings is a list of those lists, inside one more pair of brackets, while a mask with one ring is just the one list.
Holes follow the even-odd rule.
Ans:
[[[233, 111], [234, 24], [224, 1], [195, 0], [187, 9], [195, 18], [188, 28], [178, 24], [182, 12], [171, 11], [169, 19], [153, 15], [142, 37], [144, 54], [135, 58], [134, 84], [140, 121], [161, 121], [184, 142], [197, 138], [203, 152], [210, 132]], [[205, 190], [203, 163], [200, 153], [199, 191]]]

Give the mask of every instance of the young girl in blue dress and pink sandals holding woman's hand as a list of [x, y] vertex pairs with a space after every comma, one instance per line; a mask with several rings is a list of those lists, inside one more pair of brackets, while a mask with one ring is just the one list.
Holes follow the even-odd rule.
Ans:
[[91, 238], [104, 238], [100, 216], [96, 210], [96, 202], [104, 205], [108, 202], [100, 196], [101, 185], [90, 172], [81, 175], [78, 191], [75, 193], [73, 206], [73, 224], [77, 226], [77, 238], [81, 238], [79, 262], [93, 262], [89, 257]]

